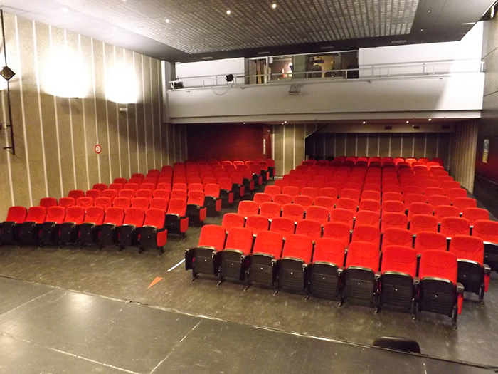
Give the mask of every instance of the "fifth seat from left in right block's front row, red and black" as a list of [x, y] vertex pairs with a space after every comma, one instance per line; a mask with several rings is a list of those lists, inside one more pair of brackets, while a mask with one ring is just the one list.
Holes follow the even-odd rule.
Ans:
[[309, 266], [308, 297], [337, 300], [344, 270], [344, 241], [319, 238], [314, 244], [313, 262]]

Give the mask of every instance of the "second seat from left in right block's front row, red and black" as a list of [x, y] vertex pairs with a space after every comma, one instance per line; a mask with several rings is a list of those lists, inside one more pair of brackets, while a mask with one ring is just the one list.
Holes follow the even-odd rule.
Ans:
[[233, 227], [228, 231], [225, 248], [219, 253], [218, 285], [226, 278], [245, 281], [245, 272], [249, 268], [252, 247], [253, 232], [250, 229]]

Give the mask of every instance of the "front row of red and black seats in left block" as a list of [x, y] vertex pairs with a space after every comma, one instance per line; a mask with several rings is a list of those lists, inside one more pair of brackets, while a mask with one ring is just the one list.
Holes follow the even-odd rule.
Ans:
[[11, 207], [1, 224], [1, 244], [78, 246], [115, 244], [163, 252], [163, 209], [139, 207]]

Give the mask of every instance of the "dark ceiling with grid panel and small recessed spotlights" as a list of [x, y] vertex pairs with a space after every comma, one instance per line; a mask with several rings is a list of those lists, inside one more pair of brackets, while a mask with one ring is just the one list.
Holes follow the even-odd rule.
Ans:
[[147, 56], [188, 62], [457, 41], [493, 3], [494, 0], [2, 0], [1, 8]]

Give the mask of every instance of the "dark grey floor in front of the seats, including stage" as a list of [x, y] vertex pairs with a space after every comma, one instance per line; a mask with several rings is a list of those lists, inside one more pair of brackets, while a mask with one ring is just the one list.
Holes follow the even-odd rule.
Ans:
[[[179, 263], [199, 232], [169, 238], [161, 256], [1, 247], [0, 373], [498, 371], [497, 274], [484, 305], [465, 295], [454, 330], [432, 313], [412, 321], [230, 281], [216, 286], [208, 276], [191, 282]], [[371, 347], [381, 335], [414, 338], [423, 355]]]

